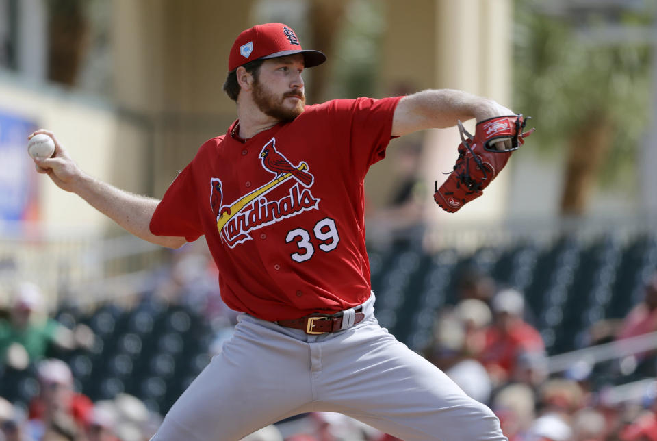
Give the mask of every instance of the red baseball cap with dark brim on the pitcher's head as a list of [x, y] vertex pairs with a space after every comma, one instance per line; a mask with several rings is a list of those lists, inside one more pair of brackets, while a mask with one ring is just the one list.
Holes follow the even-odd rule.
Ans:
[[313, 67], [326, 61], [320, 51], [304, 50], [292, 27], [283, 23], [266, 23], [242, 31], [233, 43], [228, 58], [228, 70], [234, 71], [253, 60], [284, 57], [302, 53], [305, 67]]

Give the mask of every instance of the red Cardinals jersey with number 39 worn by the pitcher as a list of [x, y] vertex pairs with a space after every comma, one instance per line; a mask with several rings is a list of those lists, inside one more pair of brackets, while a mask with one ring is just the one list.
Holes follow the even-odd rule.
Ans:
[[240, 142], [205, 142], [151, 219], [151, 231], [205, 235], [222, 299], [263, 320], [332, 313], [370, 297], [363, 179], [385, 157], [401, 97], [307, 106]]

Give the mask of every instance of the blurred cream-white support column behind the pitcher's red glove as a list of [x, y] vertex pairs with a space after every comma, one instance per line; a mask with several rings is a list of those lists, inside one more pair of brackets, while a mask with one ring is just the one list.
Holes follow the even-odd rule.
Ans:
[[[456, 88], [490, 97], [511, 107], [512, 8], [510, 0], [435, 0], [435, 87]], [[474, 120], [466, 124], [474, 131]], [[426, 137], [423, 175], [429, 181], [450, 171], [459, 144], [456, 127], [436, 129]], [[509, 164], [508, 166], [512, 166]], [[508, 167], [507, 166], [507, 167]], [[430, 222], [461, 223], [467, 220], [504, 218], [508, 171], [502, 173], [484, 196], [465, 205], [458, 214], [428, 210]], [[431, 201], [433, 203], [433, 201]]]

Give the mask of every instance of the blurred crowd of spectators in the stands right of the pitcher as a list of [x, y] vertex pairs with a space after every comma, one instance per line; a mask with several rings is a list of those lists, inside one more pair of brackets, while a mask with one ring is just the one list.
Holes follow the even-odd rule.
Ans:
[[[608, 394], [614, 381], [596, 381], [598, 375], [617, 376], [617, 360], [599, 370], [581, 361], [551, 373], [523, 294], [498, 288], [483, 273], [470, 276], [461, 283], [456, 305], [439, 313], [425, 355], [469, 396], [493, 409], [510, 441], [657, 440], [656, 350], [632, 356], [652, 378], [638, 399], [619, 400]], [[657, 331], [657, 273], [626, 318], [605, 322], [591, 327], [591, 343]], [[604, 336], [593, 335], [601, 327]]]

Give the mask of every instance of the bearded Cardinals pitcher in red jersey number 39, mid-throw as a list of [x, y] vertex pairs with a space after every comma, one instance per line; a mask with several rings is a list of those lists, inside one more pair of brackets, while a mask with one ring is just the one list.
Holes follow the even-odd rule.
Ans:
[[205, 236], [222, 298], [242, 312], [153, 440], [235, 441], [313, 411], [403, 440], [506, 440], [488, 407], [378, 325], [363, 179], [391, 138], [476, 118], [436, 189], [435, 201], [456, 211], [521, 144], [524, 119], [457, 90], [305, 105], [304, 70], [324, 60], [283, 23], [243, 31], [224, 84], [237, 119], [201, 146], [162, 201], [86, 175], [56, 140], [53, 158], [35, 160], [144, 240], [176, 248]]

